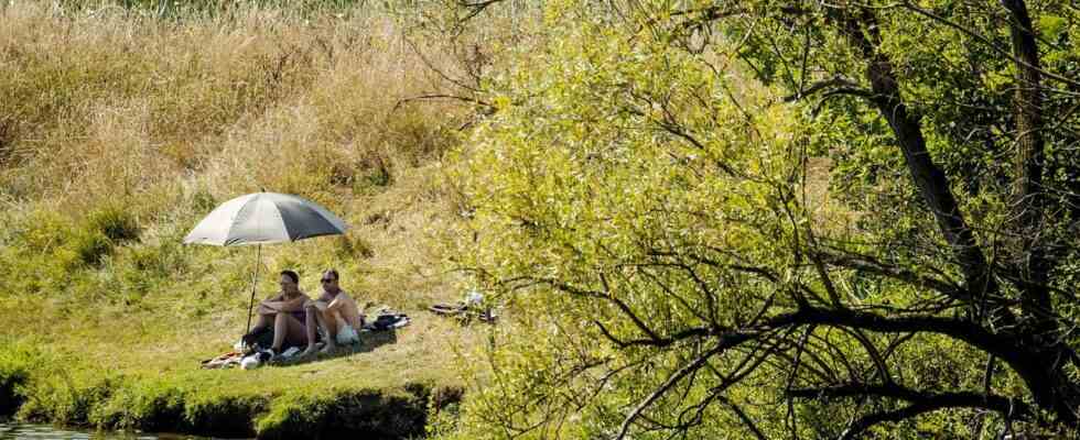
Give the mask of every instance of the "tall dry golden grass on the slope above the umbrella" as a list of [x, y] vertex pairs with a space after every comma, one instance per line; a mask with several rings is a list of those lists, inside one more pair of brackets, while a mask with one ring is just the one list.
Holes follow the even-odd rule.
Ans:
[[449, 145], [455, 109], [391, 111], [438, 89], [391, 21], [238, 8], [181, 21], [107, 3], [0, 10], [0, 193], [72, 212], [182, 188], [331, 202]]

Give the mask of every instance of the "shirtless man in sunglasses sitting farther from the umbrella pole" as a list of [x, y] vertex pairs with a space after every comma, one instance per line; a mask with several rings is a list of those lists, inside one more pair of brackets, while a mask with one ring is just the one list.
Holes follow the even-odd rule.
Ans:
[[337, 349], [337, 344], [353, 343], [358, 340], [358, 331], [364, 326], [364, 315], [360, 314], [356, 301], [353, 300], [345, 290], [338, 285], [341, 277], [336, 270], [328, 270], [323, 273], [321, 280], [323, 294], [318, 299], [307, 301], [304, 308], [307, 310], [307, 350], [303, 355], [315, 351], [316, 326], [326, 334], [326, 346], [323, 353], [328, 353]]

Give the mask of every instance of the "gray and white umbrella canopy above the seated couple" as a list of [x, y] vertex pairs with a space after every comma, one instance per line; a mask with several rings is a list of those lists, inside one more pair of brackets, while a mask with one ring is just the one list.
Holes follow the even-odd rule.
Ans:
[[318, 204], [278, 193], [255, 193], [222, 204], [184, 243], [235, 246], [345, 233], [345, 222]]

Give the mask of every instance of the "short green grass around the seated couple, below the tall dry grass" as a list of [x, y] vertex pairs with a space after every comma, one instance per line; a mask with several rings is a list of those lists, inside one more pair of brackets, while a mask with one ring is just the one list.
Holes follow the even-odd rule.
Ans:
[[[175, 264], [182, 270], [151, 279], [147, 284], [153, 288], [141, 295], [87, 288], [75, 289], [73, 297], [63, 292], [0, 297], [0, 340], [7, 342], [0, 362], [29, 376], [19, 388], [26, 400], [20, 417], [215, 432], [220, 428], [205, 420], [237, 410], [260, 435], [272, 436], [290, 426], [320, 429], [327, 405], [350, 405], [348, 396], [403, 398], [404, 408], [421, 415], [428, 410], [429, 393], [453, 399], [461, 388], [454, 352], [469, 346], [482, 327], [463, 327], [425, 310], [432, 302], [461, 297], [454, 275], [441, 268], [429, 245], [429, 235], [452, 217], [446, 204], [431, 199], [431, 167], [412, 169], [387, 190], [344, 204], [353, 227], [346, 239], [363, 241], [368, 248], [364, 255], [344, 253], [342, 238], [263, 248], [266, 270], [299, 270], [301, 288], [310, 294], [315, 294], [320, 268], [335, 266], [343, 287], [369, 311], [389, 306], [410, 315], [410, 326], [366, 333], [366, 344], [355, 352], [311, 362], [253, 371], [201, 370], [201, 360], [228, 351], [244, 329], [250, 292], [245, 283], [255, 249], [163, 246], [158, 241], [165, 238], [147, 231], [142, 242], [115, 250], [101, 267], [73, 276], [76, 283], [97, 285], [97, 278], [122, 276], [116, 274], [131, 264], [128, 252], [180, 253], [174, 258], [181, 260]], [[277, 277], [260, 279], [260, 296], [269, 295]], [[356, 403], [352, 410], [361, 406]], [[393, 407], [381, 400], [376, 406]], [[184, 416], [162, 421], [170, 411]], [[357, 419], [364, 417], [386, 418]], [[227, 425], [220, 433], [245, 433], [241, 428]], [[378, 429], [413, 432], [417, 427]]]

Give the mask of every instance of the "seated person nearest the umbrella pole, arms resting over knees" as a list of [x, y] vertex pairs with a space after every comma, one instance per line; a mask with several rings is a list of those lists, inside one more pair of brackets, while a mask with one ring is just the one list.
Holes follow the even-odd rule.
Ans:
[[307, 314], [304, 304], [310, 298], [300, 292], [300, 276], [292, 271], [281, 271], [281, 279], [278, 282], [281, 292], [273, 297], [259, 302], [259, 319], [255, 327], [244, 336], [244, 342], [250, 346], [258, 337], [267, 331], [273, 330], [273, 344], [270, 350], [274, 355], [281, 353], [285, 345], [300, 346], [304, 343], [314, 344], [315, 341], [309, 340], [306, 329]]

